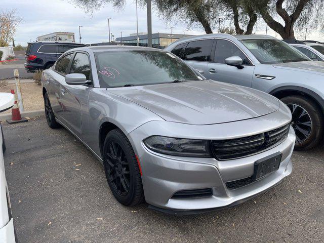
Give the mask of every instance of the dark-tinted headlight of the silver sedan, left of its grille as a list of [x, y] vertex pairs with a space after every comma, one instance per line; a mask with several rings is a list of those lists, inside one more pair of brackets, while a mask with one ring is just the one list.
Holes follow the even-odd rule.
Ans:
[[210, 141], [151, 136], [144, 140], [150, 150], [185, 157], [211, 157]]

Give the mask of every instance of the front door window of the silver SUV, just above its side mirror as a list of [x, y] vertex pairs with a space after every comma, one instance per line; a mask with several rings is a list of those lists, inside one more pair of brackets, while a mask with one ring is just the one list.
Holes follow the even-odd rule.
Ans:
[[225, 39], [218, 39], [215, 49], [215, 62], [225, 64], [225, 59], [232, 56], [242, 58], [243, 65], [251, 65], [247, 56], [235, 44]]

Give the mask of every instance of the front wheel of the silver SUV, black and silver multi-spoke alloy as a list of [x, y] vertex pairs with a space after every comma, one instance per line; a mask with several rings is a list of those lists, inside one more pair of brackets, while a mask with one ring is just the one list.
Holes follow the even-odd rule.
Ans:
[[281, 99], [292, 112], [292, 127], [296, 133], [295, 149], [315, 147], [323, 135], [323, 115], [318, 105], [304, 96], [287, 96]]

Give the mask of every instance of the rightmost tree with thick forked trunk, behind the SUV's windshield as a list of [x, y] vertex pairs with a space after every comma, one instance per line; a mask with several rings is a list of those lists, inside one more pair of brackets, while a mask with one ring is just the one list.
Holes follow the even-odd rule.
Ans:
[[[283, 39], [295, 39], [295, 27], [302, 30], [323, 23], [323, 3], [323, 0], [258, 0], [254, 6], [268, 26]], [[284, 25], [274, 20], [273, 15], [278, 15]]]

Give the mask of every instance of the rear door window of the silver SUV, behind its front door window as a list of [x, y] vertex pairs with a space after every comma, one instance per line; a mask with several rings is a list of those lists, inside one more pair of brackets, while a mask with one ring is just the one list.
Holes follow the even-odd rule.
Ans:
[[193, 61], [210, 61], [214, 39], [203, 39], [201, 41], [189, 42], [183, 59]]

